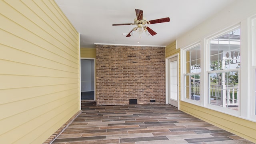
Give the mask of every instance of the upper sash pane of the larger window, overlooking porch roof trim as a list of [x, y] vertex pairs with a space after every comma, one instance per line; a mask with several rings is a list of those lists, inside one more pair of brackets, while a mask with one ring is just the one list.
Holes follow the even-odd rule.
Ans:
[[210, 68], [240, 68], [240, 28], [210, 40]]

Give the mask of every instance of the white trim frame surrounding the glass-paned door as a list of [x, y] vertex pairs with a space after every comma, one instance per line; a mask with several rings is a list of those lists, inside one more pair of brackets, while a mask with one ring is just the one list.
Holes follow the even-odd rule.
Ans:
[[177, 57], [177, 83], [178, 83], [178, 110], [180, 109], [180, 80], [179, 80], [179, 76], [180, 76], [180, 66], [179, 66], [179, 54], [174, 54], [172, 56], [169, 56], [167, 58], [165, 58], [165, 101], [166, 101], [166, 104], [169, 104], [169, 96], [168, 96], [168, 60], [170, 58], [174, 58], [174, 57]]

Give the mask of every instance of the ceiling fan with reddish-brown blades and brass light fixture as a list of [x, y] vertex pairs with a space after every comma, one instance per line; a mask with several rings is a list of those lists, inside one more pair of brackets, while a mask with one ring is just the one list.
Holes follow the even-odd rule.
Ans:
[[134, 19], [134, 23], [128, 23], [128, 24], [112, 24], [112, 26], [123, 26], [123, 25], [136, 25], [135, 28], [133, 28], [126, 37], [130, 37], [135, 32], [138, 32], [138, 38], [140, 38], [140, 34], [142, 32], [146, 32], [146, 34], [151, 34], [152, 36], [156, 35], [156, 32], [149, 28], [148, 26], [145, 26], [145, 24], [157, 24], [162, 22], [170, 22], [170, 18], [160, 18], [156, 20], [149, 20], [147, 21], [145, 18], [143, 18], [143, 10], [135, 9], [136, 12], [136, 18]]

